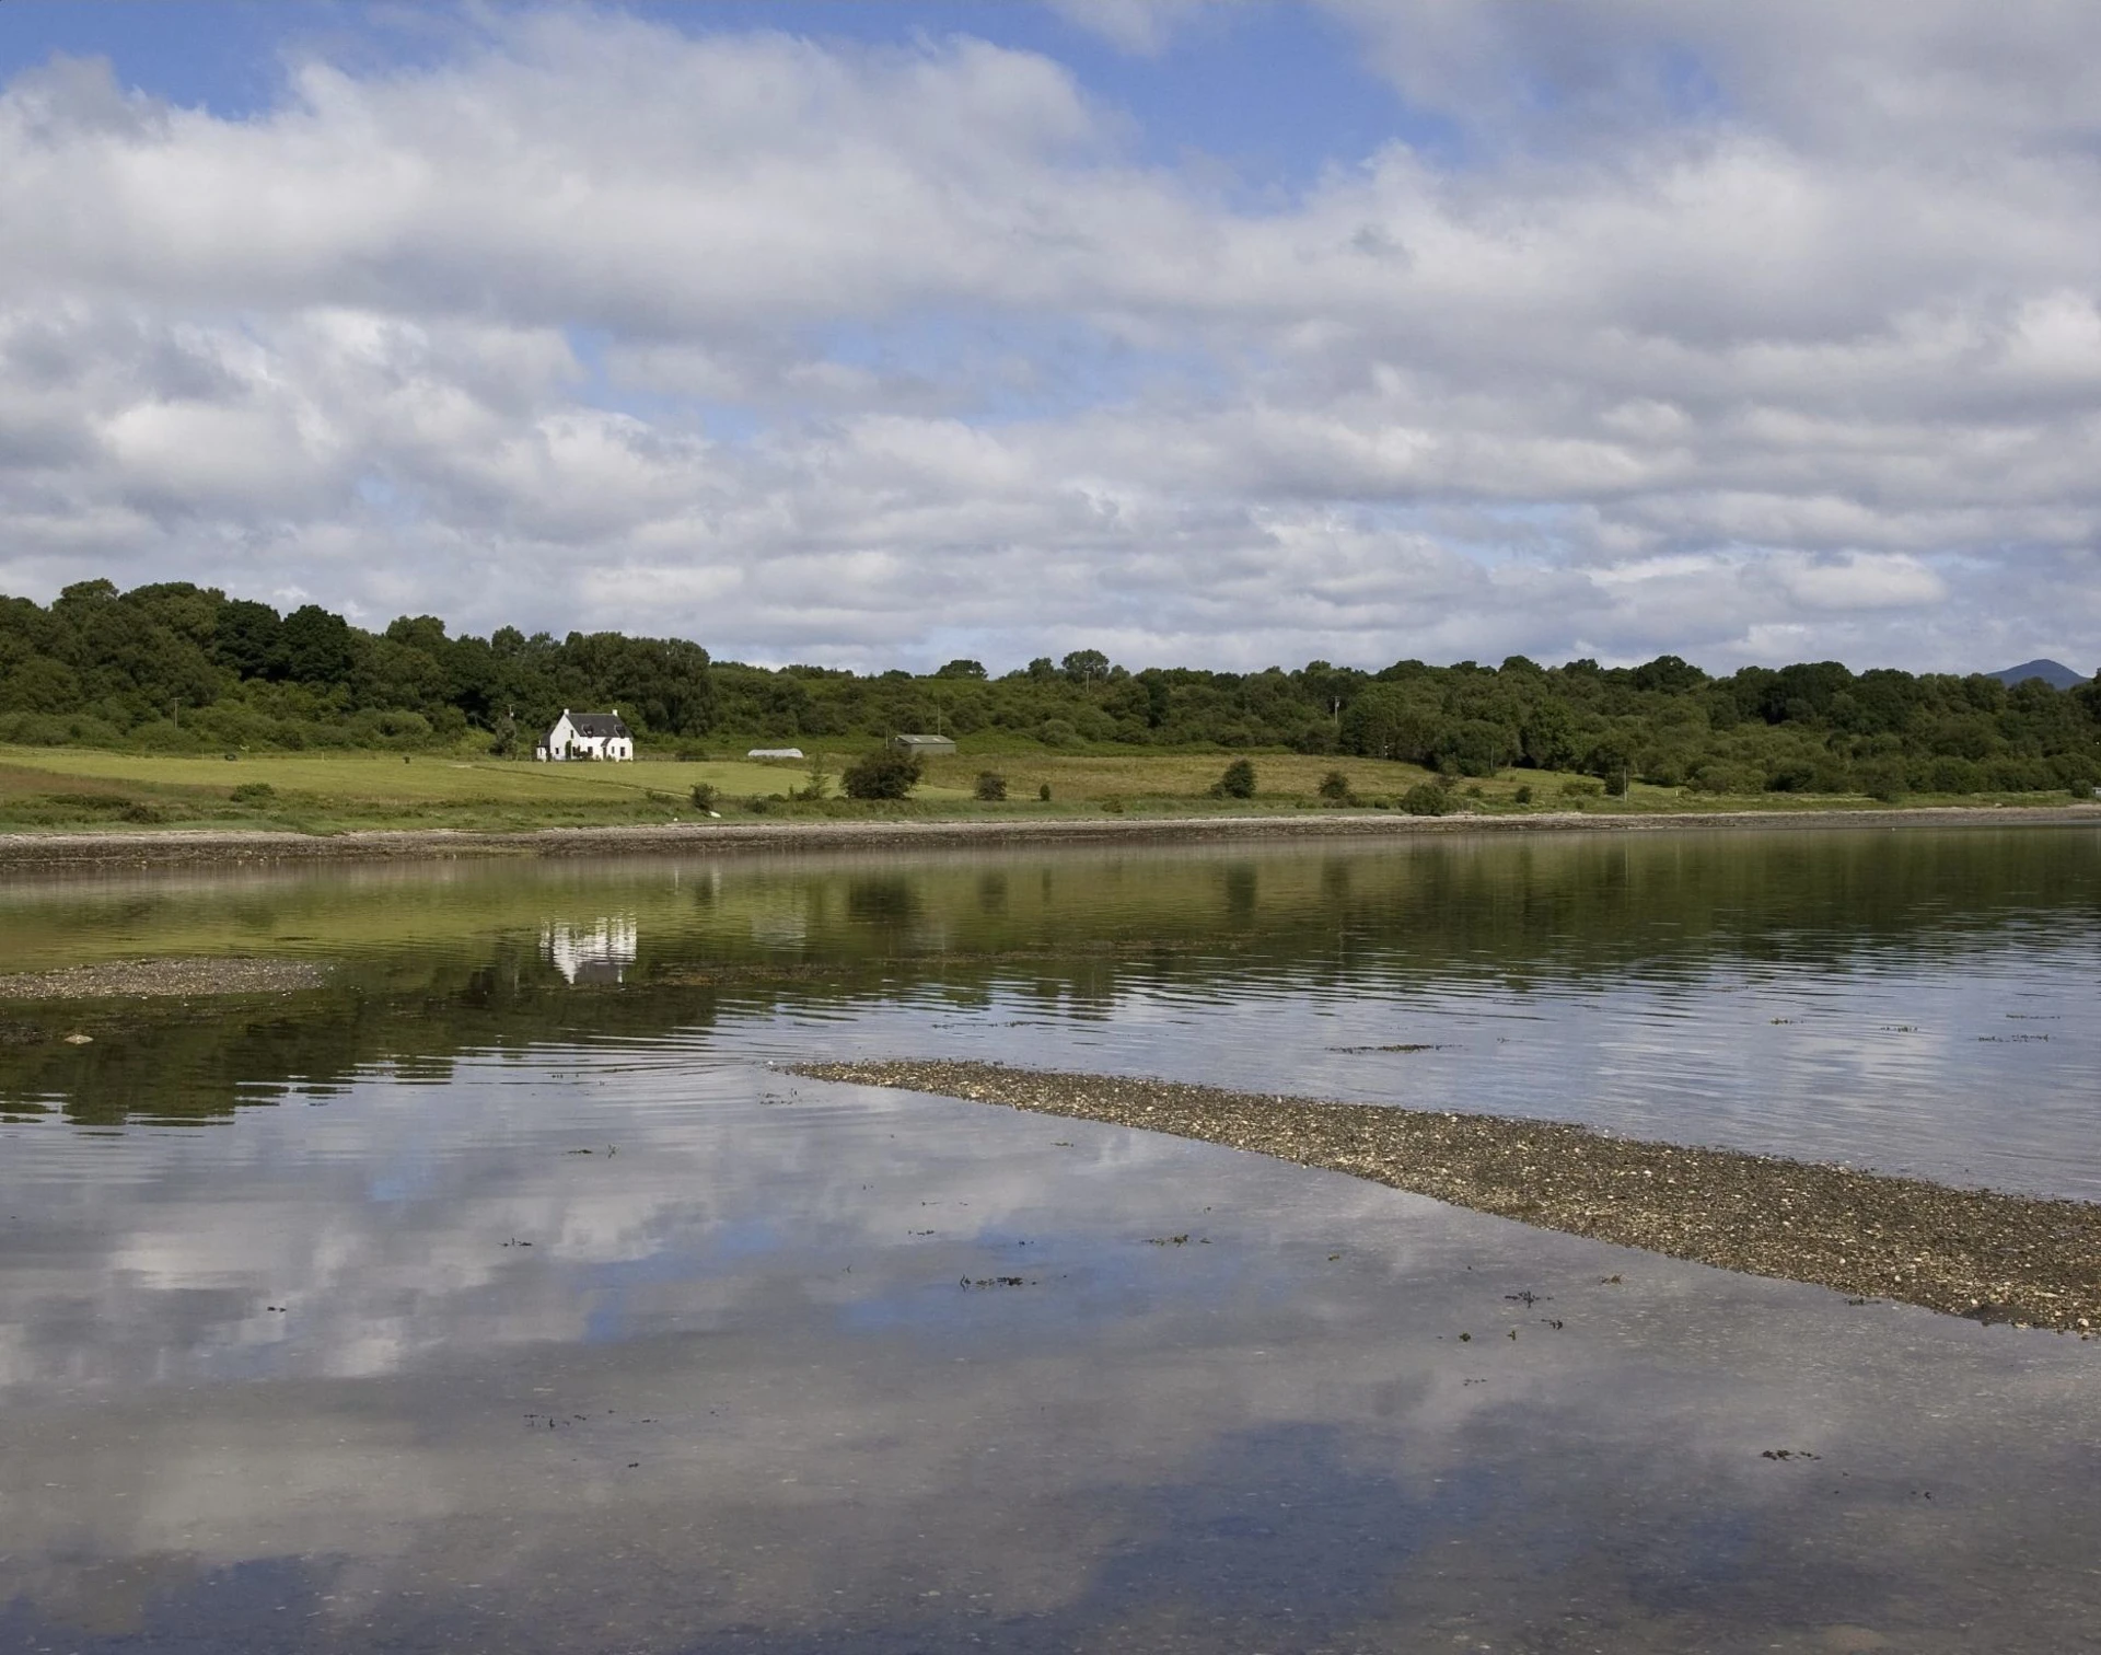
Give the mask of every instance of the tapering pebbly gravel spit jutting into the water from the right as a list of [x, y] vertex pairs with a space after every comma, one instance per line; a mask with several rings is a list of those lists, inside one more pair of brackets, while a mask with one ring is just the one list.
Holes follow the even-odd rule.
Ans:
[[1611, 1138], [1582, 1126], [1322, 1103], [996, 1063], [786, 1065], [1042, 1115], [1135, 1126], [1349, 1172], [1540, 1229], [1973, 1321], [2090, 1336], [2101, 1206]]

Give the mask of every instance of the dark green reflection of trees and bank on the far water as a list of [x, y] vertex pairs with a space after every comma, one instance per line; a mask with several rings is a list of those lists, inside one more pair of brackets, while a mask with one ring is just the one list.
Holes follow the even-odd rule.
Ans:
[[[155, 951], [191, 935], [197, 912], [231, 905], [197, 880], [69, 903], [17, 903], [8, 922], [78, 926], [122, 909], [132, 945]], [[326, 989], [210, 1014], [174, 1002], [6, 1008], [0, 1109], [57, 1098], [84, 1124], [208, 1119], [359, 1071], [439, 1080], [469, 1052], [643, 1042], [918, 989], [1099, 1019], [1162, 983], [1219, 998], [1277, 983], [1378, 993], [1410, 979], [1609, 987], [1744, 962], [1847, 970], [1864, 956], [2057, 947], [2101, 914], [2101, 842], [2082, 830], [1599, 834], [429, 870], [250, 878], [237, 905], [256, 937], [275, 926], [328, 947], [355, 935], [357, 951]], [[571, 987], [542, 939], [555, 926], [595, 937], [609, 912], [624, 916], [624, 983]], [[63, 1044], [71, 1029], [95, 1044]]]

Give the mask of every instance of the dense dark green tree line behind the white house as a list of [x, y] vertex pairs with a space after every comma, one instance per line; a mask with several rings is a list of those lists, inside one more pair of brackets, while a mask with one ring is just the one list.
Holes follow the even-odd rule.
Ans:
[[0, 596], [0, 741], [160, 752], [483, 748], [529, 754], [561, 708], [618, 708], [656, 752], [744, 741], [868, 746], [933, 731], [1048, 750], [1292, 750], [1401, 758], [1448, 775], [1580, 771], [1746, 792], [2042, 792], [2101, 785], [2101, 687], [1985, 674], [1851, 672], [1838, 662], [1710, 676], [1632, 668], [1397, 662], [1370, 672], [1128, 670], [1093, 649], [1000, 676], [712, 662], [620, 632], [452, 636], [435, 615], [382, 632], [187, 582]]

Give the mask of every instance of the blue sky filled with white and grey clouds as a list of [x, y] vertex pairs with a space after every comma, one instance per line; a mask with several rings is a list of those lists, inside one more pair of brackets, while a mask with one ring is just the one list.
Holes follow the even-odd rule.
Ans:
[[0, 590], [2101, 662], [2090, 0], [0, 4]]

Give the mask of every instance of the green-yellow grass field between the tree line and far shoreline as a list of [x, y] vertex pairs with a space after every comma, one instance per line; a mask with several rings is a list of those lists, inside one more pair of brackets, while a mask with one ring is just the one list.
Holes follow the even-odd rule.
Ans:
[[[1258, 754], [1256, 798], [1221, 800], [1212, 785], [1225, 754], [1074, 754], [935, 758], [908, 804], [840, 800], [836, 762], [830, 798], [790, 802], [809, 785], [809, 767], [794, 760], [641, 760], [635, 764], [534, 764], [458, 754], [244, 754], [164, 758], [88, 748], [0, 748], [0, 830], [78, 832], [113, 827], [288, 827], [309, 834], [353, 827], [599, 827], [618, 823], [691, 821], [691, 794], [712, 785], [725, 817], [746, 815], [1193, 815], [1296, 811], [1322, 804], [1317, 788], [1340, 771], [1359, 804], [1391, 809], [1408, 788], [1429, 777], [1414, 764], [1366, 758]], [[1006, 777], [1008, 800], [973, 798], [981, 771]], [[1040, 792], [1048, 788], [1048, 800]], [[2023, 794], [1994, 796], [2009, 804], [2044, 802]], [[1834, 804], [1868, 806], [1864, 798], [1756, 794], [1717, 798], [1635, 783], [1626, 798], [1603, 798], [1588, 777], [1546, 771], [1504, 771], [1462, 781], [1450, 802], [1458, 811], [1653, 813], [1687, 809], [1784, 811]], [[1914, 800], [1935, 802], [1935, 800]], [[1950, 800], [1954, 802], [1954, 800]], [[1969, 798], [1962, 802], [1990, 802]], [[2046, 802], [2061, 802], [2051, 798]]]

